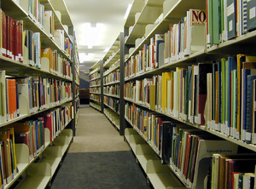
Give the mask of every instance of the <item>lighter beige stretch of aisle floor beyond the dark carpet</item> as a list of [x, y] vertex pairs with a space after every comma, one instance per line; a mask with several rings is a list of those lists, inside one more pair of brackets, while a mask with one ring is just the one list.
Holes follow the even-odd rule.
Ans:
[[104, 114], [95, 109], [80, 108], [76, 136], [69, 152], [129, 151], [124, 137], [109, 123]]

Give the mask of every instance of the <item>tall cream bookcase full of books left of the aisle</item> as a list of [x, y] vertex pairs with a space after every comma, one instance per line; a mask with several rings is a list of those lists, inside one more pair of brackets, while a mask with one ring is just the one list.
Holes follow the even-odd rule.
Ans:
[[7, 0], [0, 10], [0, 188], [44, 188], [79, 115], [73, 23], [62, 0]]

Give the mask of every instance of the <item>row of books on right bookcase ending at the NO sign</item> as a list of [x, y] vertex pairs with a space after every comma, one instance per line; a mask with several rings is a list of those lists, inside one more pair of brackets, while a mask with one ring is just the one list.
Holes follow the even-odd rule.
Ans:
[[189, 9], [187, 16], [171, 24], [165, 34], [155, 34], [149, 44], [144, 44], [138, 54], [125, 63], [125, 77], [163, 66], [205, 48], [206, 13]]

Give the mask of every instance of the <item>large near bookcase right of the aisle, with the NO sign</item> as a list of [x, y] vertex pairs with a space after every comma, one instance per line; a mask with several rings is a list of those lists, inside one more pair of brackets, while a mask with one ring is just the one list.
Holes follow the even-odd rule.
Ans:
[[[125, 140], [154, 188], [231, 188], [237, 184], [238, 175], [245, 179], [243, 188], [254, 185], [255, 161], [247, 163], [252, 169], [245, 170], [242, 167], [247, 158], [239, 156], [243, 156], [242, 152], [249, 152], [249, 156], [256, 152], [252, 117], [254, 66], [249, 68], [249, 63], [243, 63], [255, 62], [255, 26], [249, 22], [250, 29], [246, 31], [241, 21], [252, 19], [247, 14], [255, 5], [234, 2], [132, 3], [124, 28], [124, 67], [120, 74], [124, 74], [125, 82], [120, 89], [124, 89], [125, 106], [120, 107], [120, 112], [124, 109], [125, 115], [120, 119], [125, 119]], [[247, 10], [241, 9], [245, 6]], [[237, 11], [229, 12], [228, 8]], [[200, 21], [193, 25], [191, 15], [195, 12], [206, 15], [203, 25]], [[194, 83], [192, 89], [189, 78]], [[249, 123], [243, 123], [243, 119]], [[215, 146], [212, 140], [222, 145]], [[224, 181], [218, 175], [218, 161], [229, 164], [226, 158], [235, 164], [241, 161], [236, 164], [236, 171], [241, 172], [221, 167], [230, 171]], [[205, 161], [208, 173], [203, 173], [199, 161]], [[247, 172], [252, 174], [247, 176]], [[203, 181], [207, 179], [212, 183]]]

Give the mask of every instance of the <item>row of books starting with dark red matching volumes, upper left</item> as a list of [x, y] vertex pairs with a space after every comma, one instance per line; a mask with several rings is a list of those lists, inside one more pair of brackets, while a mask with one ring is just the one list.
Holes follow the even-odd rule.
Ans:
[[[37, 67], [41, 67], [40, 32], [23, 30], [23, 21], [13, 20], [9, 15], [6, 15], [2, 9], [1, 18], [1, 54], [3, 56], [9, 57], [12, 60], [18, 60], [20, 62], [24, 61], [25, 63], [31, 64], [32, 66], [35, 65]], [[55, 42], [59, 45], [60, 49], [65, 50], [67, 54], [71, 55], [72, 44], [69, 42], [68, 38], [64, 37], [64, 31], [56, 30], [55, 33]], [[46, 54], [46, 52], [42, 52], [42, 54]], [[58, 53], [56, 51], [55, 55], [57, 54]], [[58, 56], [61, 55], [58, 54]], [[44, 55], [42, 55], [42, 57], [44, 57]], [[54, 57], [52, 58], [54, 59]], [[51, 61], [57, 61], [57, 57], [55, 60], [50, 60], [49, 58], [49, 63], [51, 63]], [[51, 65], [49, 66], [51, 68]], [[50, 68], [46, 70], [49, 70]], [[54, 70], [56, 72], [61, 72], [61, 69], [62, 67], [60, 65], [59, 70]], [[65, 75], [65, 73], [63, 73], [63, 75]]]

